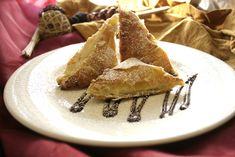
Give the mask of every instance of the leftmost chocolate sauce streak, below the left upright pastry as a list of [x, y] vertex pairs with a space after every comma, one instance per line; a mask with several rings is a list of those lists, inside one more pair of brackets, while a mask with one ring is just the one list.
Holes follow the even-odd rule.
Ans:
[[78, 100], [70, 107], [70, 111], [73, 113], [77, 113], [77, 112], [81, 112], [86, 103], [88, 103], [88, 101], [91, 99], [92, 96], [87, 95], [86, 92], [84, 92], [79, 98]]

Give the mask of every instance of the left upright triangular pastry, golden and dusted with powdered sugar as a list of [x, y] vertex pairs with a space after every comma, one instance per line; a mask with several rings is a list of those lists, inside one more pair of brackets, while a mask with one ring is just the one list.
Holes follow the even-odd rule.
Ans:
[[85, 45], [67, 63], [64, 74], [57, 78], [61, 89], [85, 88], [104, 69], [118, 64], [115, 46], [118, 16], [114, 15], [102, 25]]

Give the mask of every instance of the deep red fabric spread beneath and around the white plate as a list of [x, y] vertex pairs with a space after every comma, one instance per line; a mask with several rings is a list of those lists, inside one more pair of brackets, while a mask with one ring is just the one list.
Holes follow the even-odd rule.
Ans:
[[[190, 140], [168, 145], [135, 148], [100, 148], [72, 145], [30, 131], [8, 113], [3, 88], [10, 75], [27, 59], [21, 50], [29, 42], [38, 20], [38, 12], [55, 0], [0, 1], [0, 156], [235, 156], [235, 118], [222, 127]], [[65, 45], [82, 42], [76, 32], [40, 42], [33, 56]], [[174, 129], [174, 128], [172, 128]]]

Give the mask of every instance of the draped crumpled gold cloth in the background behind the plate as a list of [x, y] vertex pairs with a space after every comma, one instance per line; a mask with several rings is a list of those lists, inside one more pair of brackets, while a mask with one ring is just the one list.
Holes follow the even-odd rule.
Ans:
[[[170, 6], [170, 9], [165, 12], [144, 18], [146, 27], [157, 40], [202, 50], [235, 68], [235, 10], [206, 12], [182, 0], [130, 0], [127, 2], [120, 0], [120, 3], [136, 12]], [[59, 5], [69, 10], [71, 16], [78, 9], [92, 12], [104, 7], [87, 0], [64, 0]], [[80, 6], [80, 8], [75, 6]], [[84, 22], [74, 24], [73, 27], [87, 39], [98, 30], [102, 23], [102, 20]]]

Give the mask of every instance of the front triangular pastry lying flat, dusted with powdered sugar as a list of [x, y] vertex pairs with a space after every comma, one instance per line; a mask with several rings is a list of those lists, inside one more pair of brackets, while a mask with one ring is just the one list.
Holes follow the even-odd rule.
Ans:
[[184, 81], [136, 58], [129, 58], [112, 69], [106, 69], [93, 80], [87, 93], [98, 99], [122, 99], [169, 91]]

